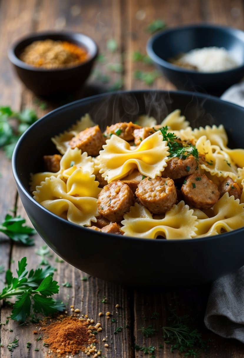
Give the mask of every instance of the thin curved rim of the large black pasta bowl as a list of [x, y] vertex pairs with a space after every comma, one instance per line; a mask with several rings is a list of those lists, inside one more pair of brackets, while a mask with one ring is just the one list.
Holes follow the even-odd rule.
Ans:
[[[191, 96], [197, 96], [197, 97], [200, 97], [202, 98], [202, 100], [206, 100], [206, 99], [210, 99], [210, 100], [213, 100], [213, 101], [216, 101], [216, 102], [224, 102], [224, 103], [228, 103], [229, 106], [235, 108], [235, 107], [241, 107], [241, 106], [238, 106], [236, 105], [235, 103], [232, 103], [232, 102], [227, 102], [227, 101], [223, 101], [221, 100], [220, 98], [218, 97], [215, 97], [215, 96], [211, 96], [211, 95], [208, 95], [208, 94], [205, 94], [205, 93], [199, 93], [199, 92], [190, 92], [190, 91], [167, 91], [167, 90], [160, 90], [160, 89], [156, 89], [156, 90], [153, 90], [153, 91], [156, 91], [156, 92], [161, 92], [161, 93], [169, 93], [170, 94], [177, 94], [177, 95], [191, 95]], [[38, 203], [34, 198], [33, 196], [29, 193], [28, 190], [26, 190], [25, 186], [22, 184], [21, 180], [20, 180], [20, 177], [18, 175], [18, 171], [17, 171], [17, 168], [16, 168], [16, 159], [17, 159], [17, 155], [18, 155], [18, 147], [21, 145], [21, 142], [25, 140], [25, 137], [28, 135], [29, 131], [32, 130], [33, 127], [35, 127], [36, 125], [38, 125], [38, 123], [40, 121], [46, 121], [48, 120], [49, 116], [50, 115], [53, 115], [55, 113], [58, 113], [59, 111], [62, 111], [64, 108], [68, 108], [68, 107], [75, 107], [75, 106], [79, 106], [80, 103], [83, 103], [85, 101], [89, 101], [91, 99], [93, 100], [96, 100], [99, 98], [103, 98], [103, 97], [106, 97], [106, 96], [111, 96], [111, 95], [116, 95], [116, 94], [123, 94], [123, 93], [128, 93], [128, 92], [133, 92], [133, 93], [140, 93], [140, 92], [152, 92], [152, 90], [147, 90], [147, 89], [140, 89], [140, 90], [122, 90], [122, 91], [114, 91], [114, 92], [109, 92], [109, 93], [100, 93], [98, 95], [94, 95], [94, 96], [89, 96], [89, 97], [85, 97], [85, 98], [82, 98], [80, 100], [76, 100], [76, 101], [73, 101], [73, 102], [70, 102], [70, 103], [67, 103], [66, 105], [63, 105], [63, 106], [60, 106], [58, 108], [55, 108], [54, 110], [48, 112], [47, 114], [45, 114], [43, 117], [39, 118], [36, 122], [34, 122], [22, 135], [21, 137], [19, 138], [18, 142], [16, 143], [15, 145], [15, 148], [14, 148], [14, 152], [13, 152], [13, 156], [12, 156], [12, 172], [13, 172], [13, 176], [14, 176], [14, 179], [16, 181], [16, 184], [18, 186], [18, 188], [21, 190], [21, 192], [25, 195], [25, 197], [27, 197], [31, 202], [32, 204], [34, 204], [36, 207], [38, 207], [40, 210], [43, 210], [44, 212], [46, 212], [48, 215], [52, 216], [55, 220], [58, 220], [58, 221], [61, 221], [62, 223], [66, 224], [66, 225], [71, 225], [73, 227], [80, 227], [82, 230], [84, 229], [85, 232], [89, 232], [89, 228], [86, 228], [84, 226], [79, 226], [78, 224], [75, 224], [75, 223], [72, 223], [66, 219], [63, 219], [61, 217], [59, 217], [58, 215], [52, 213], [51, 211], [49, 211], [48, 209], [44, 208], [40, 203]], [[241, 107], [243, 108], [243, 107]], [[243, 111], [244, 111], [244, 108], [243, 108]], [[31, 174], [31, 173], [30, 173]], [[111, 240], [114, 241], [114, 238], [118, 238], [120, 240], [133, 240], [133, 241], [143, 241], [145, 242], [145, 240], [147, 242], [160, 242], [160, 243], [163, 243], [163, 245], [175, 245], [176, 243], [179, 243], [179, 245], [191, 245], [192, 243], [196, 243], [197, 245], [197, 242], [202, 242], [202, 241], [209, 241], [209, 240], [217, 240], [219, 239], [222, 235], [224, 236], [231, 236], [233, 232], [235, 233], [240, 233], [243, 231], [244, 227], [241, 227], [239, 229], [235, 229], [235, 230], [232, 230], [232, 231], [229, 231], [229, 232], [225, 232], [225, 233], [222, 233], [222, 234], [217, 234], [217, 235], [212, 235], [212, 236], [205, 236], [205, 237], [200, 237], [200, 238], [185, 238], [185, 239], [150, 239], [150, 238], [140, 238], [140, 237], [134, 237], [134, 236], [123, 236], [123, 235], [116, 235], [116, 234], [110, 234], [110, 233], [103, 233], [103, 232], [97, 232], [99, 235], [101, 236], [106, 236], [107, 238], [111, 238]], [[167, 244], [166, 244], [167, 243]]]

